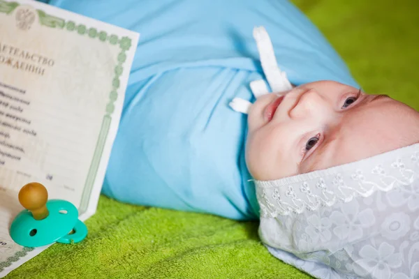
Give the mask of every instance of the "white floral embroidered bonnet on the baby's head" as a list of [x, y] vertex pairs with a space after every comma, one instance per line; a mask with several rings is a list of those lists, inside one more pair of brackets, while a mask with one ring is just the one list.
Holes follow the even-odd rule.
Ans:
[[255, 182], [275, 257], [315, 278], [419, 279], [419, 144]]

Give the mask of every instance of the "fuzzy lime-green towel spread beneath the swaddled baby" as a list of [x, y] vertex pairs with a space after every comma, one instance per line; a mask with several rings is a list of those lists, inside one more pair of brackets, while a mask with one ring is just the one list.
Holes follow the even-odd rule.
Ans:
[[[419, 110], [419, 1], [294, 0], [369, 93]], [[150, 186], [152, 187], [152, 186]], [[272, 257], [258, 223], [101, 197], [89, 235], [56, 244], [6, 278], [311, 278]]]

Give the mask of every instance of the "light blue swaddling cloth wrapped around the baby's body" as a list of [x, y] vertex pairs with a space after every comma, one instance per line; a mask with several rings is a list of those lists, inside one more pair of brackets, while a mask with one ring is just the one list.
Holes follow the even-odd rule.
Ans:
[[103, 193], [121, 202], [226, 218], [258, 218], [244, 162], [247, 116], [263, 79], [253, 27], [267, 29], [293, 84], [358, 86], [346, 65], [286, 0], [50, 0], [59, 8], [138, 31], [119, 132]]

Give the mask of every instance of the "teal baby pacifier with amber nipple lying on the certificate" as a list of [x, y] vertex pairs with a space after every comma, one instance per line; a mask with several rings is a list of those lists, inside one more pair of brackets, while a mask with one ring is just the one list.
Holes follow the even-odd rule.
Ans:
[[65, 200], [48, 200], [47, 189], [41, 183], [23, 186], [19, 202], [25, 210], [13, 220], [10, 236], [20, 246], [78, 243], [87, 236], [86, 225], [78, 219], [78, 209]]

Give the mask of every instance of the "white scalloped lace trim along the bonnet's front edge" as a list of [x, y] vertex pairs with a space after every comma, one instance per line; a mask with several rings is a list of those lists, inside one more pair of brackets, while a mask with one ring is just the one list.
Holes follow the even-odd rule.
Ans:
[[255, 181], [261, 218], [316, 211], [354, 197], [409, 186], [419, 178], [419, 144], [274, 181]]

